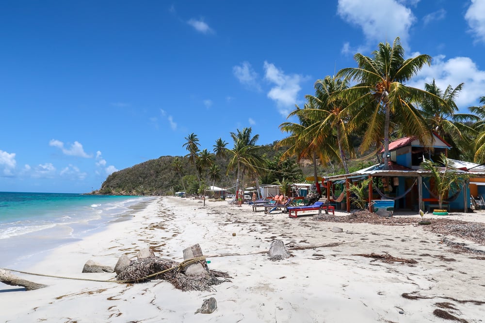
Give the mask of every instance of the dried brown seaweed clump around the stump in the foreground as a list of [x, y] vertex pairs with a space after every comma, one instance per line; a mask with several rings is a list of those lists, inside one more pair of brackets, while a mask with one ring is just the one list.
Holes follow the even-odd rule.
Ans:
[[[219, 285], [230, 281], [231, 278], [225, 272], [210, 270], [207, 275], [186, 276], [183, 269], [178, 267], [179, 262], [163, 259], [160, 257], [149, 257], [131, 261], [123, 271], [116, 277], [117, 280], [127, 280], [130, 282], [142, 282], [150, 279], [163, 279], [170, 282], [175, 288], [181, 291], [212, 291], [213, 285]], [[154, 277], [147, 276], [170, 269]], [[219, 279], [218, 277], [222, 278]]]

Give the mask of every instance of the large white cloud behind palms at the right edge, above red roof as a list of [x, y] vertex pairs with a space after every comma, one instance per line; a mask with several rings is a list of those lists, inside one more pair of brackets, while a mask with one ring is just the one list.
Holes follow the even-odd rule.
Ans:
[[478, 69], [469, 57], [445, 60], [444, 55], [435, 56], [432, 65], [423, 67], [408, 85], [422, 89], [424, 83], [431, 83], [433, 78], [443, 91], [448, 85], [454, 88], [462, 82], [465, 83], [455, 100], [462, 112], [469, 112], [466, 108], [478, 104], [480, 96], [484, 95], [485, 71]]

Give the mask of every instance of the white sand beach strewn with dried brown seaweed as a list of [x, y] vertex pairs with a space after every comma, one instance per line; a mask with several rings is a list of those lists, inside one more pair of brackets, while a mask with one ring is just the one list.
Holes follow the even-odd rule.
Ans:
[[[485, 211], [447, 218], [484, 223]], [[332, 232], [334, 226], [343, 232]], [[266, 251], [275, 239], [292, 257], [268, 259]], [[453, 248], [453, 243], [464, 243], [475, 253]], [[208, 200], [204, 207], [198, 200], [158, 198], [131, 220], [56, 248], [28, 271], [105, 280], [115, 274], [83, 274], [84, 263], [91, 259], [114, 266], [122, 254], [134, 258], [146, 247], [182, 261], [182, 250], [194, 244], [200, 244], [210, 269], [227, 272], [232, 282], [212, 292], [182, 292], [158, 280], [118, 284], [15, 273], [49, 286], [23, 291], [2, 285], [0, 321], [447, 322], [436, 316], [444, 311], [460, 322], [485, 322], [485, 254], [480, 253], [485, 246], [477, 242], [417, 224], [294, 219], [224, 201]], [[371, 253], [416, 263], [357, 256]], [[194, 314], [209, 297], [217, 300], [217, 309]]]

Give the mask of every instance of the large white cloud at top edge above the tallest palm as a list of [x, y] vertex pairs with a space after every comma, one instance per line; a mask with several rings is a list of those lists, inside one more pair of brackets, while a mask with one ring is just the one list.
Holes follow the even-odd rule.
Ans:
[[[415, 4], [412, 1], [410, 4]], [[339, 0], [339, 16], [362, 29], [367, 43], [389, 43], [396, 37], [407, 47], [409, 29], [416, 20], [409, 8], [396, 0]]]

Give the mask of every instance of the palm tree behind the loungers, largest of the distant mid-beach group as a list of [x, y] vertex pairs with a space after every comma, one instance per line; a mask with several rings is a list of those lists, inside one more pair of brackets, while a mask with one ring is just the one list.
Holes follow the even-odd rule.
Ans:
[[239, 181], [243, 169], [259, 172], [264, 164], [264, 160], [258, 154], [260, 146], [256, 146], [259, 135], [254, 135], [254, 137], [252, 137], [251, 127], [244, 128], [242, 131], [237, 129], [237, 131], [237, 134], [231, 132], [231, 137], [234, 140], [234, 147], [227, 150], [227, 153], [231, 158], [227, 164], [226, 171], [227, 175], [230, 170], [237, 169], [238, 176], [236, 181], [236, 191], [239, 190]]

